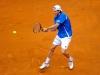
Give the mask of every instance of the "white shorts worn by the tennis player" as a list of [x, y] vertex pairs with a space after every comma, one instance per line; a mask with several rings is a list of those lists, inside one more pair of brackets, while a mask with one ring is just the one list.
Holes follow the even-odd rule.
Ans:
[[66, 50], [71, 41], [71, 37], [60, 38], [58, 35], [53, 41], [53, 45], [60, 45], [62, 50]]

